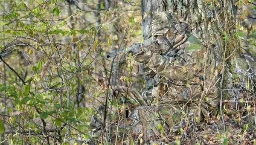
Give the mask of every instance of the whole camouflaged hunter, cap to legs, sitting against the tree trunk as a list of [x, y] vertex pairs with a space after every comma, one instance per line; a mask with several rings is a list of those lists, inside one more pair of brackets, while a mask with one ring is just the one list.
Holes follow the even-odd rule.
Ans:
[[200, 122], [201, 116], [208, 118], [218, 109], [218, 71], [211, 47], [198, 41], [173, 12], [157, 14], [152, 35], [143, 44], [129, 46], [126, 52], [146, 66], [144, 74], [154, 78], [154, 86], [142, 95], [119, 87], [119, 93], [127, 96], [125, 93], [130, 92], [129, 99], [138, 104], [127, 104], [129, 114], [119, 122], [119, 139], [123, 135], [137, 139], [143, 136], [148, 141], [161, 133], [168, 135], [191, 122]]

